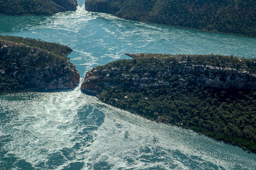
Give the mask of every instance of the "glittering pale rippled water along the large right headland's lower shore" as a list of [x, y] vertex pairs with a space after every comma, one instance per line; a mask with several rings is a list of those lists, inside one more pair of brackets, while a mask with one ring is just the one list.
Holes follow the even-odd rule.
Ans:
[[[244, 160], [244, 155], [240, 155], [242, 150], [236, 152], [233, 146], [190, 130], [155, 123], [111, 106], [101, 110], [106, 117], [88, 148], [84, 169], [107, 164], [111, 169], [178, 170], [191, 169], [194, 164], [195, 169], [213, 165], [228, 170], [240, 165], [237, 160], [247, 168], [256, 166], [254, 159]], [[243, 166], [241, 169], [246, 169]]]

